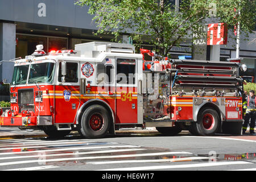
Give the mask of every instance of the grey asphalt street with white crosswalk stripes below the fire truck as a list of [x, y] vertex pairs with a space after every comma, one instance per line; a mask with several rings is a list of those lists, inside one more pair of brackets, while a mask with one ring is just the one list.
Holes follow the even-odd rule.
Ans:
[[[106, 172], [112, 174], [109, 177], [114, 181], [135, 180], [133, 177], [138, 180], [145, 177], [138, 175], [142, 170], [148, 180], [152, 173], [151, 180], [156, 180], [156, 171], [256, 170], [255, 146], [256, 136], [195, 137], [188, 132], [175, 137], [153, 132], [118, 133], [102, 139], [84, 139], [79, 135], [59, 140], [1, 139], [0, 170], [99, 170], [96, 177], [103, 181], [108, 177]], [[121, 178], [114, 179], [118, 174]]]

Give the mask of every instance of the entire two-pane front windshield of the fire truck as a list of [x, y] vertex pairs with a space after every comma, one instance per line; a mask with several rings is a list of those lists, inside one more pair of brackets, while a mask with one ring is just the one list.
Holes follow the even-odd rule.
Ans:
[[12, 85], [26, 84], [28, 76], [28, 84], [50, 83], [53, 81], [54, 63], [37, 63], [31, 64], [30, 73], [28, 74], [29, 64], [18, 65], [14, 67]]

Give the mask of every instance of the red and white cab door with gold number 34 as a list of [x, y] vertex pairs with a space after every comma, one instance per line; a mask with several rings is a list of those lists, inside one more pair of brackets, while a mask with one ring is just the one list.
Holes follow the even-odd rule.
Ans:
[[115, 122], [137, 123], [137, 59], [115, 57]]

